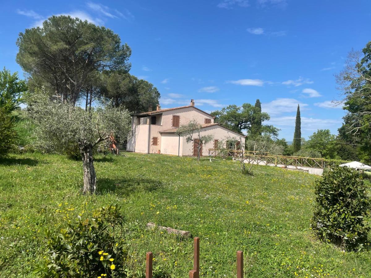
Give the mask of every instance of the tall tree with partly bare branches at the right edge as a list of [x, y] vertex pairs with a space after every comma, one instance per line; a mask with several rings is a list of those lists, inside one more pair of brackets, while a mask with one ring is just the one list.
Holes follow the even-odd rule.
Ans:
[[[371, 162], [371, 42], [362, 52], [349, 52], [344, 69], [335, 77], [338, 89], [345, 96], [343, 109], [348, 110], [339, 135], [348, 143], [361, 145], [359, 157]], [[347, 140], [350, 136], [353, 142]]]

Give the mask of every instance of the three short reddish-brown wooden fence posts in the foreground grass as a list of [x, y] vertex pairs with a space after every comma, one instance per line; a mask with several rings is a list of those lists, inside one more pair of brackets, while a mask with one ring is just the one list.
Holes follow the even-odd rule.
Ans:
[[[152, 278], [152, 252], [145, 257], [145, 278]], [[193, 239], [193, 269], [189, 271], [189, 278], [200, 278], [200, 238]], [[243, 278], [243, 252], [237, 251], [237, 278]]]

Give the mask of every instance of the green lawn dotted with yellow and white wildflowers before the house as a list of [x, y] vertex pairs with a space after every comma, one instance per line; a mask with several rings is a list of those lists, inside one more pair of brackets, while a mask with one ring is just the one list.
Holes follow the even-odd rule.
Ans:
[[82, 163], [26, 154], [0, 161], [0, 277], [32, 277], [43, 258], [45, 228], [110, 203], [127, 217], [128, 268], [144, 270], [145, 252], [170, 277], [188, 277], [192, 238], [148, 231], [147, 222], [200, 237], [201, 277], [235, 277], [244, 251], [246, 277], [370, 277], [370, 252], [345, 253], [316, 240], [309, 227], [319, 177], [269, 166], [243, 176], [229, 160], [125, 153], [98, 158], [97, 196], [82, 196]]

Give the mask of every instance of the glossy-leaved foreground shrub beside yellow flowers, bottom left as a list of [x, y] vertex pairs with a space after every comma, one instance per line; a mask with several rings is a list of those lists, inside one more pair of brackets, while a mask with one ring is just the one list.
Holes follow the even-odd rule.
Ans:
[[124, 218], [117, 206], [102, 208], [90, 218], [78, 216], [60, 234], [46, 231], [45, 262], [40, 277], [126, 277], [127, 252], [122, 241]]

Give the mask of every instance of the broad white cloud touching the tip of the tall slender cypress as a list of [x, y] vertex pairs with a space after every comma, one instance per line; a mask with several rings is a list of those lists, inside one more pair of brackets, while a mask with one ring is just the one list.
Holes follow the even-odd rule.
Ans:
[[268, 103], [262, 103], [262, 111], [267, 112], [269, 115], [296, 112], [298, 104], [300, 105], [301, 110], [305, 110], [306, 106], [308, 106], [308, 104], [301, 103], [296, 99], [280, 98]]

